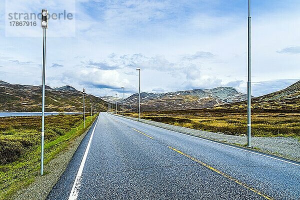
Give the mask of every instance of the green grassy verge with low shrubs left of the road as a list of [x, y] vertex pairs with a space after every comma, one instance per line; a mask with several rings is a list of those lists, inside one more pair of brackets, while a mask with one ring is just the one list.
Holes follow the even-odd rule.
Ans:
[[[95, 117], [94, 117], [95, 118]], [[93, 119], [94, 119], [93, 118]], [[92, 123], [82, 115], [45, 117], [44, 164]], [[40, 170], [41, 117], [4, 117], [0, 120], [0, 199], [33, 181]], [[45, 171], [47, 173], [47, 171]]]

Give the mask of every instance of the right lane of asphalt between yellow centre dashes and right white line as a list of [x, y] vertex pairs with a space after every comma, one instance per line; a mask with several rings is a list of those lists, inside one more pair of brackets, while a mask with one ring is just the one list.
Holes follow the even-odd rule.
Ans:
[[205, 160], [205, 163], [275, 199], [300, 199], [298, 162], [288, 163], [284, 159], [280, 161], [277, 157], [274, 157], [275, 159], [273, 156], [265, 157], [256, 152], [250, 153], [120, 116], [110, 115], [110, 117], [195, 158]]

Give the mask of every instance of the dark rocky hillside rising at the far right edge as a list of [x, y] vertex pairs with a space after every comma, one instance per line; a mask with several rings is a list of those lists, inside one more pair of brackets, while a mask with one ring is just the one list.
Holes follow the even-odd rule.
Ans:
[[[215, 108], [245, 108], [247, 101], [230, 103]], [[299, 110], [300, 111], [300, 80], [285, 89], [266, 95], [251, 98], [251, 107], [257, 109]]]

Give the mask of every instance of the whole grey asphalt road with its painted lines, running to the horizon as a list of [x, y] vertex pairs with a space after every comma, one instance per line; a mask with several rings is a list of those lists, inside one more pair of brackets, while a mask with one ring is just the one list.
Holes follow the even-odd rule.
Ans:
[[101, 112], [48, 199], [300, 199], [300, 163]]

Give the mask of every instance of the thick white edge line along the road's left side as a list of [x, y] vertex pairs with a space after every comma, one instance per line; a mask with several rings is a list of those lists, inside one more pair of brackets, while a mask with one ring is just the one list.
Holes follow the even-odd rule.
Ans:
[[87, 153], [88, 153], [88, 150], [89, 150], [89, 147], [90, 147], [91, 139], [92, 139], [93, 133], [95, 131], [95, 128], [97, 126], [98, 120], [99, 120], [99, 116], [100, 115], [98, 115], [98, 119], [96, 121], [96, 124], [95, 124], [94, 128], [92, 129], [91, 135], [89, 137], [89, 140], [88, 140], [88, 143], [87, 143], [84, 155], [82, 157], [79, 169], [77, 171], [77, 175], [76, 175], [76, 178], [74, 180], [74, 184], [73, 184], [73, 187], [72, 187], [72, 190], [70, 192], [68, 200], [75, 200], [78, 197], [79, 187], [81, 185], [81, 179], [82, 179], [82, 175], [81, 174], [82, 174], [83, 167], [84, 167], [84, 164], [85, 164], [85, 160], [86, 160], [86, 157], [87, 157]]

